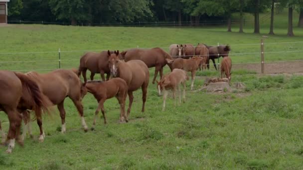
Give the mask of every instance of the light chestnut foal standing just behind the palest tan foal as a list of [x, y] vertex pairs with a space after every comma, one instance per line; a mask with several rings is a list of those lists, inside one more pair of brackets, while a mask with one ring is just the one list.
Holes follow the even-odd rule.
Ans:
[[199, 65], [202, 62], [202, 57], [192, 57], [191, 59], [178, 58], [175, 60], [167, 59], [167, 63], [171, 63], [172, 69], [182, 69], [185, 72], [191, 72], [191, 86], [193, 90], [193, 84], [195, 81], [196, 71], [199, 69]]

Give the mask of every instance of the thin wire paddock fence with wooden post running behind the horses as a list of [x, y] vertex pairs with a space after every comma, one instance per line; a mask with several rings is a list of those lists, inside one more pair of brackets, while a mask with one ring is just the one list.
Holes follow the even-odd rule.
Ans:
[[[220, 43], [212, 46], [218, 46]], [[269, 42], [263, 39], [253, 44], [229, 44], [232, 70], [247, 70], [262, 74], [303, 72], [303, 41]], [[112, 48], [121, 52], [129, 48]], [[139, 45], [133, 48], [141, 48]], [[160, 47], [169, 51], [169, 45]], [[141, 48], [151, 49], [151, 48]], [[56, 69], [78, 68], [80, 57], [86, 52], [100, 52], [108, 49], [62, 50], [35, 52], [0, 52], [1, 70], [18, 72], [49, 72]], [[215, 60], [217, 68], [222, 58]], [[210, 61], [210, 70], [215, 71]], [[219, 70], [219, 69], [218, 69]]]

